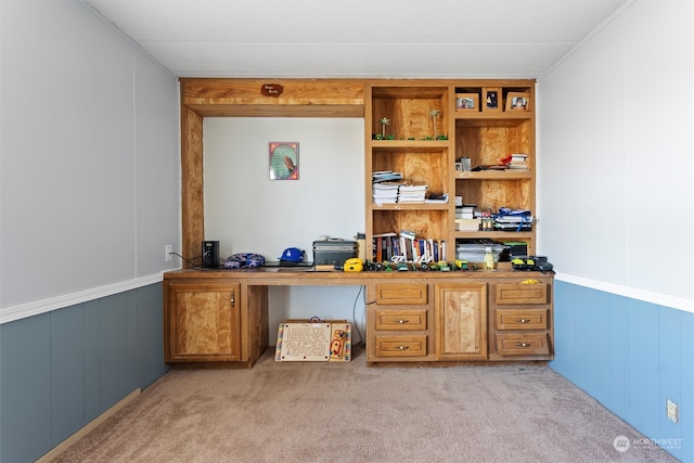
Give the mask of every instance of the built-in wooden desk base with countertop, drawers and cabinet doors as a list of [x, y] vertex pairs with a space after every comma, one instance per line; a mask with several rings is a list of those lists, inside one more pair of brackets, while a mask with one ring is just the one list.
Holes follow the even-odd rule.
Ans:
[[268, 347], [268, 286], [364, 286], [367, 362], [548, 361], [552, 274], [203, 269], [164, 274], [165, 359], [250, 368]]

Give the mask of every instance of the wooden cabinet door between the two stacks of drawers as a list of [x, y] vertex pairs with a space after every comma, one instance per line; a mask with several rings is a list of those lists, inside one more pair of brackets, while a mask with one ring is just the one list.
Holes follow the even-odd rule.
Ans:
[[441, 360], [487, 358], [487, 284], [436, 285], [437, 350]]

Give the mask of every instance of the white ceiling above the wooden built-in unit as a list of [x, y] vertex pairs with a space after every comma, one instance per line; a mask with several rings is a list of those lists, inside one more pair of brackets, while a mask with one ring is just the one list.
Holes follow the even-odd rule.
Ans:
[[633, 0], [85, 0], [179, 77], [537, 78]]

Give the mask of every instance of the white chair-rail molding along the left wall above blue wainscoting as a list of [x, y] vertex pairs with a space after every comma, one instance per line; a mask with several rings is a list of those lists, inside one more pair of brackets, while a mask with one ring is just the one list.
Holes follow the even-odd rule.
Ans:
[[164, 281], [164, 272], [113, 283], [105, 286], [93, 287], [79, 293], [65, 294], [57, 297], [36, 300], [34, 303], [21, 304], [7, 309], [0, 309], [0, 324], [38, 316], [56, 309], [63, 309], [77, 304], [88, 303], [102, 297], [113, 296], [114, 294], [125, 293], [127, 291], [149, 286], [154, 283], [160, 283], [162, 281]]

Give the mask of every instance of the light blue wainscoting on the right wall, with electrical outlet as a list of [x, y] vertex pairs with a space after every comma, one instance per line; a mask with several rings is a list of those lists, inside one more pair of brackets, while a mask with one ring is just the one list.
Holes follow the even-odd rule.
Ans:
[[[694, 313], [561, 281], [554, 310], [551, 368], [651, 442], [694, 462]], [[666, 399], [679, 406], [678, 424]]]

